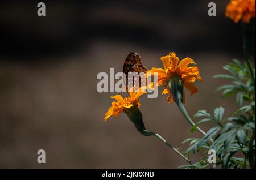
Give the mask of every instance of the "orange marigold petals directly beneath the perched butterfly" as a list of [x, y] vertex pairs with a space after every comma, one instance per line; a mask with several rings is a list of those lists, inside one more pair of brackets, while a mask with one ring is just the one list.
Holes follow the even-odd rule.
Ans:
[[117, 101], [112, 102], [112, 106], [109, 108], [108, 112], [106, 112], [104, 120], [108, 121], [108, 118], [111, 115], [117, 117], [120, 113], [125, 112], [127, 109], [134, 106], [139, 108], [139, 106], [141, 106], [139, 97], [147, 93], [146, 91], [143, 91], [142, 88], [144, 87], [139, 88], [137, 92], [135, 92], [134, 87], [131, 88], [130, 97], [123, 98], [121, 95], [112, 96], [111, 98], [114, 98]]

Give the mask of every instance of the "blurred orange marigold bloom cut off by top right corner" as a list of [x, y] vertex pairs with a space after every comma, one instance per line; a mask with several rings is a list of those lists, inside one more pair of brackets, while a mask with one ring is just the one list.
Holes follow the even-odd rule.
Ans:
[[255, 0], [231, 0], [226, 6], [225, 15], [238, 23], [241, 19], [249, 23], [255, 18]]

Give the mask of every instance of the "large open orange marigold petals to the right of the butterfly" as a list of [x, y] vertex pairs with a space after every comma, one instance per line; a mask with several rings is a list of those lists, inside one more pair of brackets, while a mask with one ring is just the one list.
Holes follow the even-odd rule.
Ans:
[[[169, 53], [164, 57], [161, 57], [161, 61], [163, 62], [164, 68], [155, 68], [153, 67], [150, 71], [147, 72], [157, 72], [158, 73], [158, 86], [164, 85], [166, 89], [162, 92], [163, 95], [168, 94], [167, 101], [173, 102], [172, 93], [170, 91], [170, 87], [168, 86], [168, 81], [172, 78], [180, 78], [182, 80], [183, 85], [190, 91], [190, 95], [192, 96], [194, 93], [198, 91], [193, 82], [196, 79], [203, 81], [200, 76], [199, 69], [196, 66], [188, 67], [190, 64], [196, 64], [191, 58], [185, 58], [180, 61], [179, 58], [176, 57], [174, 52]], [[183, 91], [183, 101], [185, 101], [185, 94]]]

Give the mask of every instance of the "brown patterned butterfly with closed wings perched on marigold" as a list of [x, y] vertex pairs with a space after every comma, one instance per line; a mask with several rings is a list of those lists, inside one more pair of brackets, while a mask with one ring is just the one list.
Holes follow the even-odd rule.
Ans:
[[[126, 59], [125, 59], [125, 63], [123, 64], [123, 73], [126, 75], [126, 89], [128, 88], [128, 83], [129, 83], [129, 79], [128, 79], [128, 73], [129, 72], [147, 72], [147, 68], [142, 64], [142, 59], [141, 56], [138, 53], [135, 52], [130, 52]], [[133, 78], [133, 85], [134, 86], [136, 84], [138, 79]], [[141, 87], [142, 84], [142, 78], [139, 77], [139, 87]]]

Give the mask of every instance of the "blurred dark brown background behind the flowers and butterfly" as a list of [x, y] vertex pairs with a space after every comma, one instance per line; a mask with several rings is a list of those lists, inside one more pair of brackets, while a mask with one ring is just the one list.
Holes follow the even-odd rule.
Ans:
[[[195, 60], [204, 82], [196, 82], [194, 96], [186, 91], [191, 116], [199, 109], [213, 113], [217, 106], [228, 116], [238, 108], [234, 98], [221, 100], [215, 92], [226, 82], [212, 78], [232, 58], [243, 60], [242, 29], [225, 17], [228, 0], [214, 1], [212, 17], [210, 1], [203, 0], [43, 1], [41, 17], [38, 2], [0, 2], [0, 168], [186, 164], [158, 139], [139, 134], [124, 113], [104, 122], [115, 93], [98, 93], [96, 76], [109, 74], [110, 67], [122, 71], [130, 51], [141, 54], [148, 68], [162, 67], [160, 57], [170, 51]], [[160, 90], [156, 99], [141, 98], [148, 130], [176, 147], [200, 137]], [[38, 164], [38, 149], [46, 151], [46, 164]]]

